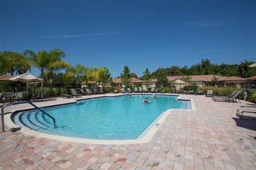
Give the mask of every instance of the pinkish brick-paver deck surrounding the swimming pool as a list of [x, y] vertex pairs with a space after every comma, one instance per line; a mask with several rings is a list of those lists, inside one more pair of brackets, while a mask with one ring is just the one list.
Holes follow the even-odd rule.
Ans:
[[[256, 109], [256, 105], [212, 101], [205, 96], [180, 98], [194, 99], [196, 111], [170, 111], [148, 143], [92, 145], [19, 131], [1, 133], [0, 169], [256, 169], [256, 114], [245, 113], [242, 120], [236, 116], [237, 108]], [[42, 107], [76, 99], [81, 98], [34, 104]], [[9, 106], [5, 113], [28, 107]]]

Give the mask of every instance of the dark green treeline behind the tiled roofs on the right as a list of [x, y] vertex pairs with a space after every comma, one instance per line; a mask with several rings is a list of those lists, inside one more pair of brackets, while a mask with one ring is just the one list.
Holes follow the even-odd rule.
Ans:
[[249, 67], [255, 62], [244, 61], [241, 64], [212, 64], [210, 60], [202, 60], [201, 63], [192, 65], [191, 67], [171, 66], [170, 68], [159, 68], [151, 73], [152, 78], [157, 78], [159, 74], [167, 76], [175, 75], [221, 75], [221, 76], [237, 76], [242, 78], [250, 78], [256, 75], [256, 67]]

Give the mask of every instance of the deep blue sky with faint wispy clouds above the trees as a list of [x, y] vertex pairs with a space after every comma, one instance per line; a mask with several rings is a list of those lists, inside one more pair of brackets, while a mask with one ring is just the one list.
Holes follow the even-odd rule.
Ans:
[[202, 58], [256, 61], [255, 1], [1, 1], [0, 28], [1, 51], [61, 48], [113, 77], [124, 65], [141, 76]]

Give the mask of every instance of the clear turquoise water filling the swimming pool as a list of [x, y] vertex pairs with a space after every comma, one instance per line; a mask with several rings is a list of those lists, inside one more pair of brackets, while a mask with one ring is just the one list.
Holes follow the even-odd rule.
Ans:
[[[143, 104], [147, 97], [149, 104]], [[77, 104], [47, 108], [12, 115], [15, 124], [35, 131], [86, 139], [137, 139], [139, 135], [167, 109], [191, 109], [190, 101], [177, 100], [177, 96], [133, 95], [84, 100]]]

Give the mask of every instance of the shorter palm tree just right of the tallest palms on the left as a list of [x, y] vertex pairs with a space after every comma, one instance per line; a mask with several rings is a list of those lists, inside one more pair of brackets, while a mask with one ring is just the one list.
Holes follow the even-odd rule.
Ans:
[[64, 74], [65, 82], [68, 81], [68, 79], [72, 77], [76, 77], [76, 89], [78, 90], [78, 84], [79, 84], [79, 76], [86, 74], [86, 67], [82, 64], [77, 64], [75, 66], [69, 66], [66, 73]]

